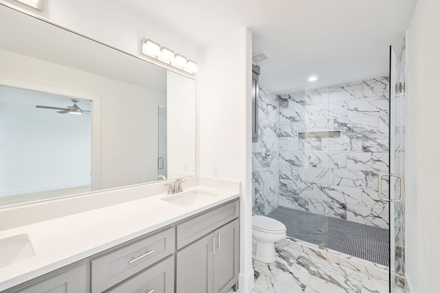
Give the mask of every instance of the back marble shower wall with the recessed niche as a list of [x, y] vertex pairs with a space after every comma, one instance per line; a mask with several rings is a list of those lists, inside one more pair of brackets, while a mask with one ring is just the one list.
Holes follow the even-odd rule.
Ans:
[[388, 172], [388, 86], [381, 77], [278, 95], [280, 206], [388, 228], [377, 196]]

